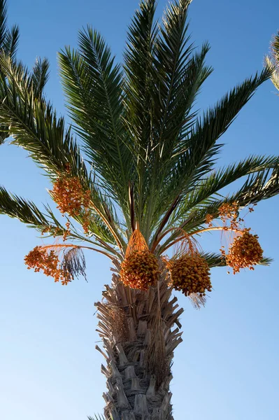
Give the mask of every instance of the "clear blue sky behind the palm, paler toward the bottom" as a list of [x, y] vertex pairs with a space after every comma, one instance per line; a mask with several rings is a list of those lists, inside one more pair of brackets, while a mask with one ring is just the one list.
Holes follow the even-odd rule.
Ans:
[[[20, 58], [51, 63], [47, 93], [59, 112], [64, 98], [57, 51], [76, 45], [78, 29], [92, 24], [106, 37], [117, 59], [137, 0], [10, 0], [9, 22], [20, 25]], [[159, 0], [158, 15], [165, 6]], [[208, 40], [208, 64], [215, 68], [199, 97], [204, 109], [256, 70], [262, 69], [271, 35], [279, 28], [278, 0], [194, 0], [189, 10], [196, 45]], [[279, 97], [266, 82], [223, 137], [220, 163], [249, 153], [279, 154]], [[15, 146], [0, 149], [0, 183], [36, 201], [48, 200], [48, 180]], [[184, 342], [173, 366], [176, 420], [269, 420], [278, 416], [278, 197], [264, 202], [249, 223], [259, 234], [271, 267], [227, 276], [212, 272], [214, 291], [205, 309], [185, 307]], [[86, 420], [101, 412], [105, 381], [94, 350], [94, 302], [110, 282], [109, 263], [87, 254], [89, 283], [62, 287], [28, 271], [24, 255], [41, 240], [36, 232], [0, 218], [0, 419]], [[205, 249], [217, 241], [208, 237]]]

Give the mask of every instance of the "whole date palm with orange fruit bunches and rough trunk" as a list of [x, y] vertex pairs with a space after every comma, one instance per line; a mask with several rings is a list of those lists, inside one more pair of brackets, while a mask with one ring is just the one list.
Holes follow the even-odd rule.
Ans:
[[[59, 52], [73, 130], [43, 93], [43, 62], [35, 77], [1, 55], [1, 127], [49, 176], [64, 216], [1, 187], [1, 214], [61, 239], [36, 247], [25, 262], [64, 284], [85, 275], [83, 248], [112, 263], [112, 283], [96, 303], [106, 419], [173, 419], [171, 363], [183, 312], [173, 288], [200, 307], [211, 290], [210, 267], [237, 272], [269, 263], [240, 211], [279, 193], [278, 157], [251, 155], [219, 169], [215, 161], [220, 137], [272, 69], [245, 79], [199, 116], [194, 104], [212, 69], [208, 44], [198, 52], [189, 41], [190, 2], [171, 3], [159, 24], [155, 1], [142, 0], [123, 66], [91, 27], [80, 31], [78, 49]], [[240, 179], [241, 187], [224, 195]], [[229, 249], [201, 251], [197, 239], [208, 230], [231, 238]]]

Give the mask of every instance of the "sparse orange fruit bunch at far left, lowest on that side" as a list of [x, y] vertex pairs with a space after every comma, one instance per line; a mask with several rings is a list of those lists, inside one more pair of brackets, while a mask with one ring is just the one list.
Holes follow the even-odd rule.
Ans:
[[46, 276], [51, 276], [55, 282], [61, 281], [63, 285], [73, 280], [67, 269], [61, 269], [59, 258], [55, 250], [49, 246], [35, 246], [24, 258], [28, 269], [34, 268], [35, 272], [43, 271]]

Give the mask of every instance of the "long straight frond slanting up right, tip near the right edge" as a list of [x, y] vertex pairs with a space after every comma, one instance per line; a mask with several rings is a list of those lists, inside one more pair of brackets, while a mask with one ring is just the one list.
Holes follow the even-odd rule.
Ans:
[[160, 197], [163, 202], [168, 203], [168, 210], [176, 197], [185, 197], [191, 193], [197, 183], [213, 170], [217, 153], [222, 146], [217, 140], [226, 132], [257, 87], [270, 75], [270, 69], [265, 69], [254, 78], [246, 79], [226, 94], [214, 108], [204, 113], [202, 119], [196, 121], [191, 134], [183, 141], [185, 152], [173, 159], [173, 167], [164, 179]]

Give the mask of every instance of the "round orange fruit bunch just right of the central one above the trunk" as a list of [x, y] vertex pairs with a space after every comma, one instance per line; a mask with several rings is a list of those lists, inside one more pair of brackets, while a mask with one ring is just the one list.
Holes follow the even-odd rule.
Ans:
[[179, 248], [175, 250], [174, 258], [167, 262], [167, 267], [173, 288], [181, 290], [186, 296], [192, 293], [205, 296], [206, 290], [211, 291], [208, 263], [201, 257], [196, 243], [186, 232], [183, 232]]

